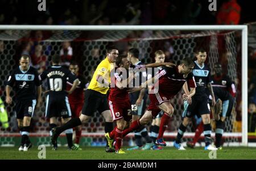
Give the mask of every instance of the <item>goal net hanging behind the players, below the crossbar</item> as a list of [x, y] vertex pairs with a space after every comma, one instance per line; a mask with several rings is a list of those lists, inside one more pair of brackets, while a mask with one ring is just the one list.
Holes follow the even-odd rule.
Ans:
[[[242, 82], [242, 53], [241, 31], [230, 30], [110, 30], [110, 31], [75, 31], [75, 30], [2, 30], [0, 31], [0, 85], [1, 97], [4, 99], [5, 81], [10, 71], [18, 66], [18, 59], [22, 53], [37, 56], [39, 62], [34, 65], [39, 72], [49, 66], [52, 55], [60, 54], [80, 64], [80, 72], [88, 79], [92, 78], [94, 69], [105, 58], [106, 46], [115, 45], [119, 54], [126, 54], [131, 47], [139, 49], [139, 59], [145, 63], [154, 62], [154, 52], [164, 51], [166, 61], [177, 62], [184, 57], [195, 57], [194, 53], [199, 48], [208, 52], [207, 64], [211, 72], [216, 62], [222, 64], [224, 73], [228, 74], [237, 87], [236, 106], [232, 115], [225, 122], [225, 143], [241, 142], [241, 102]], [[65, 63], [66, 62], [66, 63]], [[43, 85], [43, 88], [44, 85]], [[166, 140], [172, 140], [179, 128], [181, 114], [183, 112], [182, 93], [172, 99], [175, 113], [164, 134]], [[46, 96], [42, 95], [42, 105], [35, 111], [32, 118], [32, 134], [41, 136], [39, 144], [50, 144], [48, 136], [49, 122], [44, 117]], [[14, 104], [7, 107], [9, 112], [10, 127], [1, 128], [1, 143], [6, 144], [12, 140], [12, 135], [18, 135], [18, 127], [15, 119]], [[59, 122], [60, 124], [60, 122]], [[196, 122], [189, 124], [184, 141], [191, 140], [195, 132]], [[214, 127], [213, 127], [214, 129]], [[82, 125], [82, 135], [90, 140], [82, 143], [92, 145], [94, 141], [103, 142], [104, 118], [97, 112], [88, 123]], [[6, 137], [9, 136], [9, 137]], [[213, 136], [214, 137], [214, 134]], [[130, 139], [133, 136], [129, 137]], [[127, 139], [125, 139], [127, 140]], [[0, 145], [1, 145], [0, 143]]]

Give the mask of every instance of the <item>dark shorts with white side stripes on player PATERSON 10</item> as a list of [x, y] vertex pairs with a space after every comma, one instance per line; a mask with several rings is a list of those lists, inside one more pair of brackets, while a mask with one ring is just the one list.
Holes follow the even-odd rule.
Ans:
[[69, 105], [68, 97], [65, 95], [47, 95], [46, 117], [71, 117], [71, 108]]

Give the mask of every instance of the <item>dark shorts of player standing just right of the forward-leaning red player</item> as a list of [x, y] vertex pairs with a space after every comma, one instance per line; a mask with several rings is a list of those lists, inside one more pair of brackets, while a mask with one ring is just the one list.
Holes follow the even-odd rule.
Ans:
[[192, 103], [191, 105], [187, 105], [184, 109], [183, 117], [187, 116], [188, 118], [192, 118], [195, 115], [200, 117], [204, 114], [210, 114], [210, 105], [207, 95], [200, 98], [192, 97]]

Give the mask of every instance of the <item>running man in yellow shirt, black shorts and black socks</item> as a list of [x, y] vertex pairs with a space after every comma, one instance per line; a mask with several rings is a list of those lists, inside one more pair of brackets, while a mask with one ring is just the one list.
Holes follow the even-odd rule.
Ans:
[[[114, 68], [115, 59], [118, 57], [117, 48], [110, 47], [107, 49], [106, 58], [97, 66], [93, 78], [90, 81], [88, 89], [85, 91], [84, 106], [82, 114], [79, 118], [73, 118], [61, 127], [52, 129], [52, 143], [57, 143], [57, 137], [61, 132], [80, 126], [82, 123], [88, 122], [95, 111], [98, 110], [105, 118], [105, 132], [113, 130], [113, 119], [109, 110], [107, 101], [107, 91], [110, 84], [110, 71]], [[112, 147], [106, 143], [106, 152], [114, 152]]]

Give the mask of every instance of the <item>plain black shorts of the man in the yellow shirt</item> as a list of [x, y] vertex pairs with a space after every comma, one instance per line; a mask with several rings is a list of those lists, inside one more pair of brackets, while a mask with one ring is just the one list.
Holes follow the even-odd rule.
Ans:
[[102, 112], [109, 110], [106, 94], [87, 89], [85, 90], [84, 95], [84, 106], [82, 106], [83, 115], [92, 116], [96, 111], [101, 114]]

